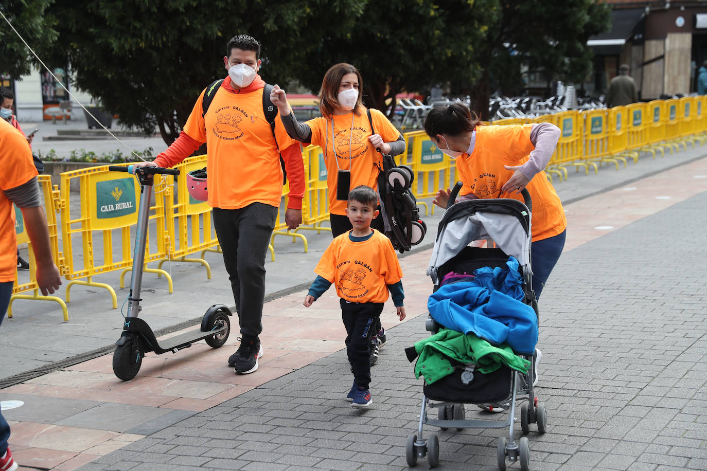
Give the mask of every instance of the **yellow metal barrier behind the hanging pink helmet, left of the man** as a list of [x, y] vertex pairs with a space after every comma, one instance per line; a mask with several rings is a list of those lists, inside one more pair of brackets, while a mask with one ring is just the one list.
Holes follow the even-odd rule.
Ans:
[[[204, 260], [204, 252], [218, 252], [218, 238], [211, 224], [211, 206], [206, 201], [197, 201], [189, 195], [187, 189], [187, 173], [206, 167], [206, 155], [189, 157], [175, 169], [180, 171], [177, 177], [177, 203], [173, 196], [173, 181], [171, 175], [163, 175], [166, 180], [166, 190], [158, 195], [163, 198], [165, 207], [165, 224], [167, 239], [165, 240], [165, 257], [160, 260], [157, 268], [162, 268], [166, 261], [181, 261], [201, 263], [206, 268], [206, 278], [211, 280], [211, 266]], [[217, 249], [214, 249], [217, 247]], [[189, 254], [201, 251], [200, 258], [189, 258]], [[159, 276], [159, 275], [158, 275]]]

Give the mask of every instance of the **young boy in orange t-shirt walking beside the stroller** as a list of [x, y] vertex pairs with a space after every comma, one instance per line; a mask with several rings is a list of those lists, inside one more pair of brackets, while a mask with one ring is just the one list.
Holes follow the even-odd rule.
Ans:
[[354, 373], [349, 395], [351, 407], [369, 407], [370, 338], [388, 294], [397, 315], [405, 318], [402, 270], [390, 240], [370, 222], [378, 216], [378, 195], [370, 186], [349, 192], [346, 216], [354, 227], [335, 238], [317, 263], [317, 279], [305, 297], [309, 307], [334, 283], [341, 298], [341, 319], [346, 327], [346, 353]]

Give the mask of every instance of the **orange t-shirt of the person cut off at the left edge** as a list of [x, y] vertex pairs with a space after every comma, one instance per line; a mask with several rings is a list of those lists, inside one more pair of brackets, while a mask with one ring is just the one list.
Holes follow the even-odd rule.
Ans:
[[15, 208], [4, 192], [36, 177], [37, 167], [27, 139], [4, 119], [0, 119], [0, 169], [0, 282], [8, 282], [17, 275], [17, 236]]

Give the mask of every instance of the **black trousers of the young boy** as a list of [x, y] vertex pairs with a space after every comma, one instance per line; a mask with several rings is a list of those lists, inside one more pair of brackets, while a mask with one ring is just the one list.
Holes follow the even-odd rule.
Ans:
[[382, 302], [346, 302], [341, 299], [341, 320], [346, 328], [346, 354], [359, 388], [370, 384], [370, 338], [380, 322]]

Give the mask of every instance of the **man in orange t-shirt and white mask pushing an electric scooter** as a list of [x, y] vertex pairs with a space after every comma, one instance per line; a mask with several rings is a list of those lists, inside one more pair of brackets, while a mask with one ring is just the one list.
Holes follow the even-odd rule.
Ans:
[[260, 44], [252, 37], [231, 38], [223, 57], [228, 77], [216, 90], [206, 113], [204, 90], [179, 138], [153, 162], [136, 164], [171, 167], [206, 143], [208, 203], [214, 208], [214, 228], [240, 323], [240, 347], [228, 359], [237, 374], [256, 371], [263, 353], [259, 335], [265, 254], [282, 196], [280, 155], [290, 182], [285, 213], [288, 229], [302, 223], [305, 191], [299, 143], [287, 135], [279, 115], [274, 131], [265, 118], [265, 83], [257, 75], [259, 56]]

